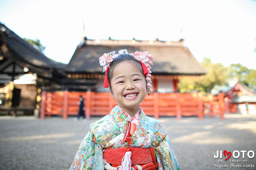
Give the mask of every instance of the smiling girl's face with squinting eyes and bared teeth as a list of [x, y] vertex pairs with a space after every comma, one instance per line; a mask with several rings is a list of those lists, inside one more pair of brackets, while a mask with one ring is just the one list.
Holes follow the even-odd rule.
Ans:
[[146, 97], [146, 79], [138, 64], [123, 61], [116, 65], [110, 80], [110, 94], [116, 99], [121, 109], [133, 116]]

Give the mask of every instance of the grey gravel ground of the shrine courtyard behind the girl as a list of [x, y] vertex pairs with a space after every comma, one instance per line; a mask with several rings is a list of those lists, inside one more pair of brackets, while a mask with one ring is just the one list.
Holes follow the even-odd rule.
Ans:
[[[69, 169], [80, 142], [89, 130], [89, 124], [101, 117], [91, 117], [87, 122], [75, 122], [74, 117], [0, 116], [0, 169]], [[256, 169], [256, 156], [248, 158], [247, 152], [256, 152], [256, 115], [225, 115], [219, 117], [160, 117], [168, 128], [172, 147], [184, 170]], [[225, 161], [214, 158], [217, 150], [242, 152]], [[237, 153], [235, 154], [237, 156]], [[249, 156], [252, 156], [252, 152]], [[218, 160], [222, 162], [218, 162]], [[244, 160], [247, 162], [230, 162]], [[228, 165], [228, 167], [219, 166]], [[243, 167], [252, 165], [253, 167]], [[242, 166], [242, 167], [234, 167]]]

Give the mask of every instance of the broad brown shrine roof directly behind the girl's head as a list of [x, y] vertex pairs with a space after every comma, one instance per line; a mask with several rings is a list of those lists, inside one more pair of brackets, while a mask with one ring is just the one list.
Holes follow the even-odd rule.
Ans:
[[150, 51], [154, 56], [153, 74], [168, 75], [204, 75], [206, 70], [194, 55], [179, 42], [136, 41], [136, 40], [88, 40], [78, 45], [70, 62], [66, 65], [66, 73], [101, 73], [99, 57], [104, 53], [127, 49]]

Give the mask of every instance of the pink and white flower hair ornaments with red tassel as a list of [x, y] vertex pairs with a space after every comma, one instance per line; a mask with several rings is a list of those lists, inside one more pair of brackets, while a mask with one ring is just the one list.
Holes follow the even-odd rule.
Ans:
[[[109, 87], [109, 82], [108, 82], [108, 69], [113, 61], [113, 58], [117, 57], [119, 54], [128, 54], [126, 49], [120, 49], [118, 51], [118, 54], [115, 54], [116, 51], [112, 51], [110, 53], [104, 53], [100, 58], [100, 65], [102, 66], [102, 72], [106, 71], [106, 75], [104, 78], [104, 85], [103, 87]], [[151, 67], [150, 65], [153, 65], [152, 60], [154, 59], [154, 57], [150, 54], [150, 52], [148, 51], [136, 51], [134, 54], [130, 53], [130, 55], [134, 56], [134, 58], [136, 58], [138, 61], [140, 61], [141, 65], [142, 65], [142, 69], [143, 69], [143, 73], [146, 76], [146, 81], [147, 81], [147, 92], [148, 95], [150, 95], [150, 92], [152, 92], [152, 90], [150, 89], [150, 87], [152, 87], [151, 83], [151, 74], [152, 73], [150, 71]]]

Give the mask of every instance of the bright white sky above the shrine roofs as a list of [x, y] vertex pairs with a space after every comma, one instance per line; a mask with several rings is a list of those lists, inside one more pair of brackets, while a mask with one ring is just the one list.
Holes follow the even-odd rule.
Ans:
[[39, 39], [44, 54], [62, 63], [83, 36], [183, 38], [199, 62], [256, 69], [256, 0], [0, 0], [0, 22], [21, 38]]

